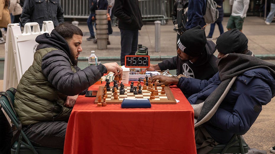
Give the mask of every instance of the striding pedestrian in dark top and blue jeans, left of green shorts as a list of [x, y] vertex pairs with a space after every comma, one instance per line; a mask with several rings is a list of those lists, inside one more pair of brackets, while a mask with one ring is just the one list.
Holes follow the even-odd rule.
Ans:
[[214, 33], [214, 29], [215, 29], [215, 25], [217, 24], [219, 27], [219, 31], [220, 31], [220, 35], [224, 32], [223, 27], [222, 27], [222, 20], [223, 20], [223, 7], [222, 7], [222, 3], [224, 0], [214, 0], [217, 3], [217, 9], [219, 11], [219, 18], [210, 25], [210, 32], [208, 34], [208, 36], [206, 37], [206, 39], [208, 40], [212, 40], [212, 36]]

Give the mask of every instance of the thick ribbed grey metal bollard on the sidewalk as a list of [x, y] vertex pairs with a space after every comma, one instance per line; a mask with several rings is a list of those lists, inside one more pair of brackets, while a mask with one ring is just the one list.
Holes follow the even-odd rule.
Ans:
[[95, 10], [97, 49], [107, 49], [108, 20], [107, 10]]

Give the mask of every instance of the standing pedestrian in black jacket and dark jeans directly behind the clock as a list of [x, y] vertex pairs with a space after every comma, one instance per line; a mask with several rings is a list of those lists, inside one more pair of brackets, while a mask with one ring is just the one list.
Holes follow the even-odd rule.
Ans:
[[120, 62], [124, 64], [126, 55], [135, 55], [139, 40], [139, 30], [143, 26], [138, 0], [115, 0], [114, 15], [119, 19], [121, 36]]

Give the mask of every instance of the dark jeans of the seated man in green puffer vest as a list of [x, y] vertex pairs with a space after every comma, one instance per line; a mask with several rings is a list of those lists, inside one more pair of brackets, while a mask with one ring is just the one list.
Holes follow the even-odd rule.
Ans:
[[34, 146], [63, 149], [67, 125], [64, 121], [45, 121], [22, 130]]

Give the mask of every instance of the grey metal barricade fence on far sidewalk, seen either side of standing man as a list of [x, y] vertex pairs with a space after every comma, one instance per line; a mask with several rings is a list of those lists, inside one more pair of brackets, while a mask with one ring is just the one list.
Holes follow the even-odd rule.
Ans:
[[[61, 7], [64, 10], [65, 18], [88, 18], [90, 9], [88, 0], [61, 0]], [[166, 24], [167, 11], [170, 11], [167, 0], [139, 0], [139, 8], [143, 21], [160, 20], [161, 24]], [[173, 5], [173, 4], [172, 4]], [[170, 14], [170, 13], [169, 13]]]

